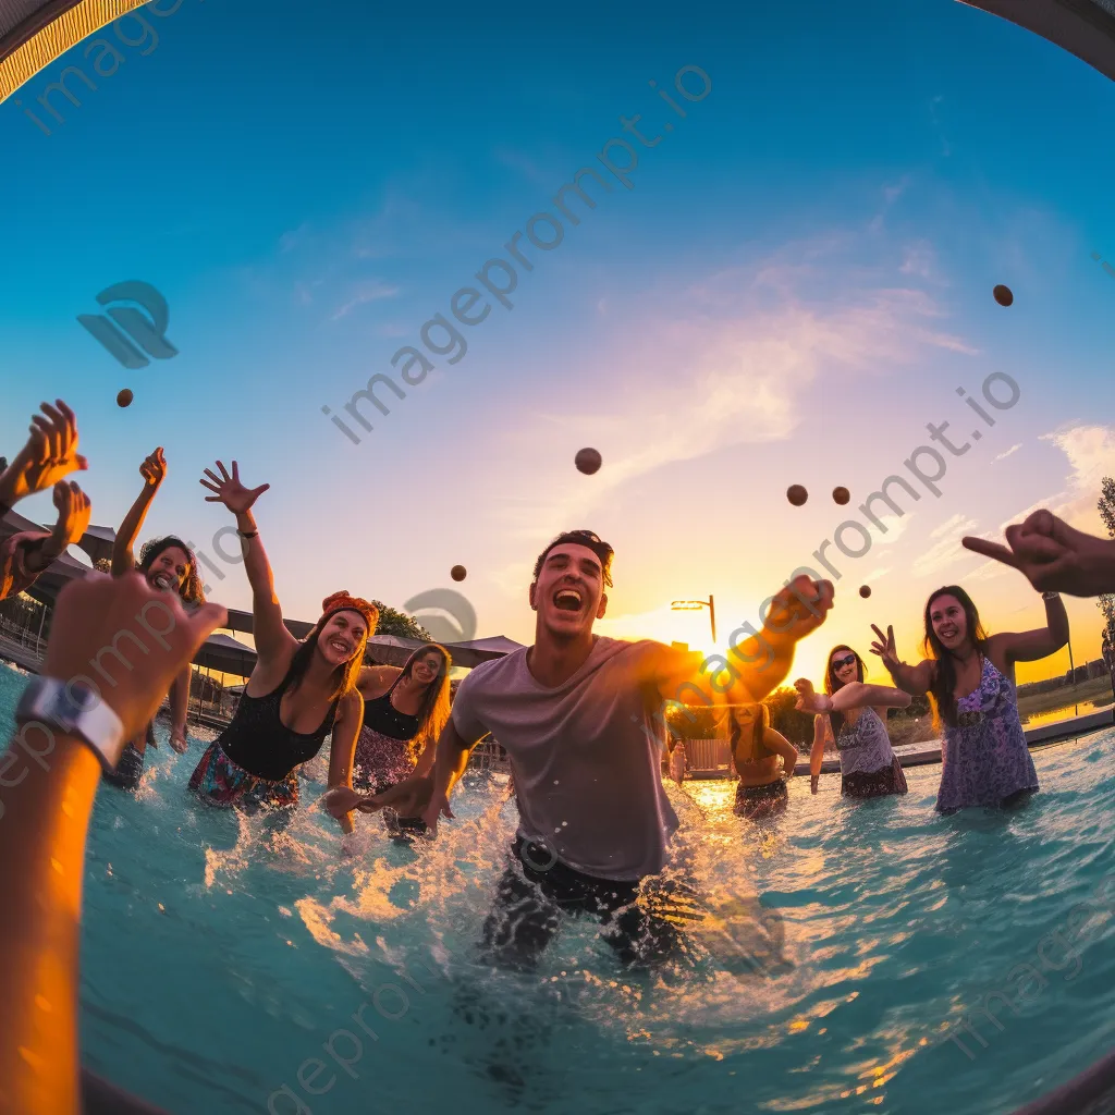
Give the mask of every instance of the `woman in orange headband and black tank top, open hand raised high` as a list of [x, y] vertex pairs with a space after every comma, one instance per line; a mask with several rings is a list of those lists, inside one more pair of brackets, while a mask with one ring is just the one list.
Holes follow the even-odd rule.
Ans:
[[[210, 745], [190, 778], [190, 788], [221, 808], [255, 813], [298, 805], [295, 767], [312, 759], [332, 733], [330, 788], [352, 788], [352, 753], [363, 712], [357, 689], [368, 637], [379, 610], [367, 600], [334, 592], [321, 603], [321, 618], [299, 641], [283, 623], [271, 565], [252, 516], [252, 505], [271, 486], [246, 488], [234, 460], [232, 475], [219, 460], [217, 476], [205, 469], [201, 483], [209, 503], [223, 503], [236, 516], [244, 569], [252, 586], [255, 668], [232, 723]], [[326, 807], [352, 831], [349, 808]]]

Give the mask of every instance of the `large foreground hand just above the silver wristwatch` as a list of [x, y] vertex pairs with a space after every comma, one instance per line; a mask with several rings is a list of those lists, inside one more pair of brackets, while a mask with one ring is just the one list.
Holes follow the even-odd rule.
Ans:
[[[132, 739], [146, 731], [171, 682], [226, 620], [220, 604], [202, 604], [187, 615], [177, 595], [156, 591], [140, 573], [90, 573], [58, 595], [42, 676], [60, 681], [100, 677], [93, 666], [99, 655], [116, 681], [101, 686], [101, 697]], [[114, 659], [104, 655], [115, 648], [124, 651], [127, 670], [114, 668]]]

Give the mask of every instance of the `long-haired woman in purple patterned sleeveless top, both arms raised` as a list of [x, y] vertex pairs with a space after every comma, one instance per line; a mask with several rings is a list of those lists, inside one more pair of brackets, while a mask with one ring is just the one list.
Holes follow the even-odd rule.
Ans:
[[944, 733], [939, 813], [972, 805], [1011, 806], [1038, 789], [1018, 717], [1015, 662], [1032, 662], [1068, 642], [1068, 615], [1056, 592], [1044, 592], [1046, 626], [988, 636], [971, 597], [959, 585], [938, 589], [925, 604], [924, 648], [932, 658], [917, 666], [899, 660], [894, 629], [872, 629], [871, 644], [894, 683], [908, 694], [928, 692]]

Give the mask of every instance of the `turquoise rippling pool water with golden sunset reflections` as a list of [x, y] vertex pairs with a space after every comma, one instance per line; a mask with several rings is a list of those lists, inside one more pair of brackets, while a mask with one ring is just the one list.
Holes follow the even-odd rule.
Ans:
[[[6, 728], [20, 686], [0, 668]], [[501, 785], [471, 785], [430, 849], [366, 820], [345, 862], [316, 809], [275, 835], [195, 807], [200, 745], [164, 746], [136, 796], [97, 799], [85, 1060], [175, 1115], [1012, 1112], [1115, 1036], [1106, 922], [1076, 960], [1049, 938], [1115, 883], [1113, 735], [1036, 752], [1043, 793], [1010, 816], [937, 817], [937, 767], [857, 806], [835, 777], [815, 797], [797, 779], [764, 828], [727, 783], [671, 787], [677, 870], [711, 912], [653, 977], [624, 975], [589, 922], [532, 977], [472, 961], [514, 827]], [[992, 1005], [997, 1029], [978, 1004], [1027, 962], [1041, 981], [1017, 1014]], [[942, 1041], [964, 1017], [987, 1044], [966, 1037], [971, 1056]]]

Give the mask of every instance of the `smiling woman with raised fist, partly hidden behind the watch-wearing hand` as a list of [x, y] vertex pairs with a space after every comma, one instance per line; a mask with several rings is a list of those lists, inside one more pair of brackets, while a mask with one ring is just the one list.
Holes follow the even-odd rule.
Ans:
[[[166, 478], [166, 460], [162, 447], [144, 459], [139, 466], [139, 475], [144, 481], [143, 491], [132, 504], [132, 510], [124, 516], [124, 522], [116, 532], [116, 541], [113, 543], [113, 576], [124, 576], [134, 569], [138, 570], [153, 589], [177, 593], [187, 609], [200, 607], [205, 602], [205, 593], [202, 591], [202, 580], [197, 573], [197, 559], [182, 539], [168, 534], [144, 543], [139, 551], [139, 564], [136, 565], [133, 547], [151, 510], [152, 501]], [[171, 686], [171, 746], [180, 755], [190, 746], [186, 743], [190, 673], [191, 666], [187, 662]], [[148, 746], [158, 746], [154, 721], [147, 725], [142, 735], [128, 743], [115, 773], [106, 774], [106, 779], [120, 789], [135, 789], [143, 777]]]

